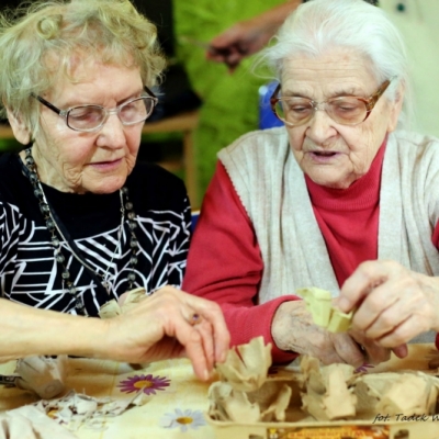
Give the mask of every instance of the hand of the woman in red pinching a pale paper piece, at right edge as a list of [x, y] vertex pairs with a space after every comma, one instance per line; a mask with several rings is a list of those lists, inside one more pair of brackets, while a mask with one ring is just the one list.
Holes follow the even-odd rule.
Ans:
[[352, 328], [405, 357], [405, 344], [427, 330], [439, 331], [439, 279], [395, 261], [361, 263], [341, 288], [337, 306], [357, 308]]

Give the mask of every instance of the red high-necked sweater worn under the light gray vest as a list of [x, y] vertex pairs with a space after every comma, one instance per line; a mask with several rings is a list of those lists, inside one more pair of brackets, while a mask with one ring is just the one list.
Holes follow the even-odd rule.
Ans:
[[[306, 178], [314, 214], [341, 286], [359, 263], [378, 258], [380, 183], [385, 146], [367, 175], [348, 189], [328, 189]], [[439, 227], [432, 241], [439, 245]], [[232, 345], [263, 336], [273, 346], [273, 362], [295, 354], [278, 349], [271, 322], [279, 305], [295, 295], [257, 303], [263, 270], [252, 224], [224, 168], [218, 162], [207, 189], [191, 243], [183, 290], [217, 302], [232, 335]]]

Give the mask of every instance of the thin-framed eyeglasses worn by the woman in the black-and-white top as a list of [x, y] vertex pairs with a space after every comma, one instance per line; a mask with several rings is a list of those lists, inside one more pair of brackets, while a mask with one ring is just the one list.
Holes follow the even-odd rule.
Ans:
[[41, 95], [34, 93], [31, 93], [31, 95], [61, 116], [69, 128], [91, 133], [100, 130], [112, 113], [117, 114], [123, 125], [130, 126], [145, 122], [157, 105], [158, 98], [146, 86], [144, 89], [149, 95], [131, 99], [114, 109], [87, 104], [70, 106], [67, 110], [59, 110]]

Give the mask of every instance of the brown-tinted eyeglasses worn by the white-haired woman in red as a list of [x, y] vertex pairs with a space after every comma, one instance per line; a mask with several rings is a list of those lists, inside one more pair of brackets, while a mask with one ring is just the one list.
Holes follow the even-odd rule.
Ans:
[[270, 98], [270, 104], [275, 116], [289, 126], [309, 122], [317, 110], [325, 110], [333, 121], [341, 125], [358, 125], [369, 117], [390, 83], [390, 80], [384, 81], [369, 98], [347, 95], [331, 98], [324, 102], [300, 97], [278, 98], [281, 90], [281, 85], [279, 85]]

